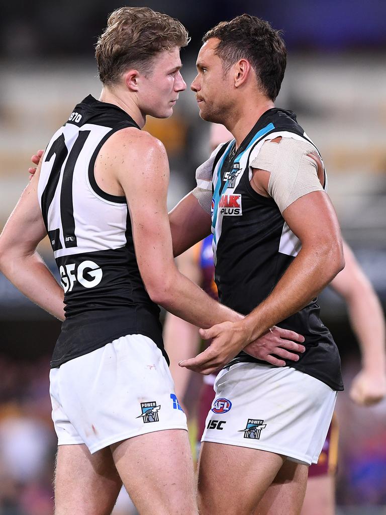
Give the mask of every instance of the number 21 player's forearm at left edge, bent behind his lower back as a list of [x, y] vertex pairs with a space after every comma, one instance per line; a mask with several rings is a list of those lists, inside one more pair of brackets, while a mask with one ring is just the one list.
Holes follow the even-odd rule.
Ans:
[[63, 289], [56, 282], [40, 255], [4, 255], [0, 263], [5, 277], [32, 302], [64, 320]]

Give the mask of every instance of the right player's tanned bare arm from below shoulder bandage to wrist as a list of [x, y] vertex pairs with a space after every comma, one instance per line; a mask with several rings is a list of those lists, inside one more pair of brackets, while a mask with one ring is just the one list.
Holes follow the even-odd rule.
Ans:
[[271, 295], [246, 317], [245, 326], [252, 339], [266, 329], [265, 324], [272, 325], [300, 311], [344, 266], [338, 220], [325, 193], [301, 197], [284, 211], [283, 217], [300, 239], [302, 249]]

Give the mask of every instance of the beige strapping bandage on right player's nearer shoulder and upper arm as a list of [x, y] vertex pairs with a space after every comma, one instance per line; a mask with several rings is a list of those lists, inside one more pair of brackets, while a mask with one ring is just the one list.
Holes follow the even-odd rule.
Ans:
[[324, 191], [318, 178], [317, 162], [307, 154], [315, 147], [306, 141], [282, 138], [279, 143], [267, 141], [252, 168], [270, 172], [268, 193], [276, 202], [280, 213], [307, 193]]

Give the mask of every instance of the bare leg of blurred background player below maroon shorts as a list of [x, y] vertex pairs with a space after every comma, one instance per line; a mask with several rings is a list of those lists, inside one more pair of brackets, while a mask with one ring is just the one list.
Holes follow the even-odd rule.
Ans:
[[328, 474], [310, 477], [307, 482], [302, 515], [335, 514], [335, 478]]

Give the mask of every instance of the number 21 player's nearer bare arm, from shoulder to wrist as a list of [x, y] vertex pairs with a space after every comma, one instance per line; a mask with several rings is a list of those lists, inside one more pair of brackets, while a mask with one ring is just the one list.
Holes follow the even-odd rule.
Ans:
[[240, 319], [183, 276], [174, 264], [166, 208], [169, 168], [161, 142], [146, 132], [124, 129], [111, 136], [103, 155], [126, 195], [136, 260], [151, 299], [203, 327], [218, 323], [215, 320]]

